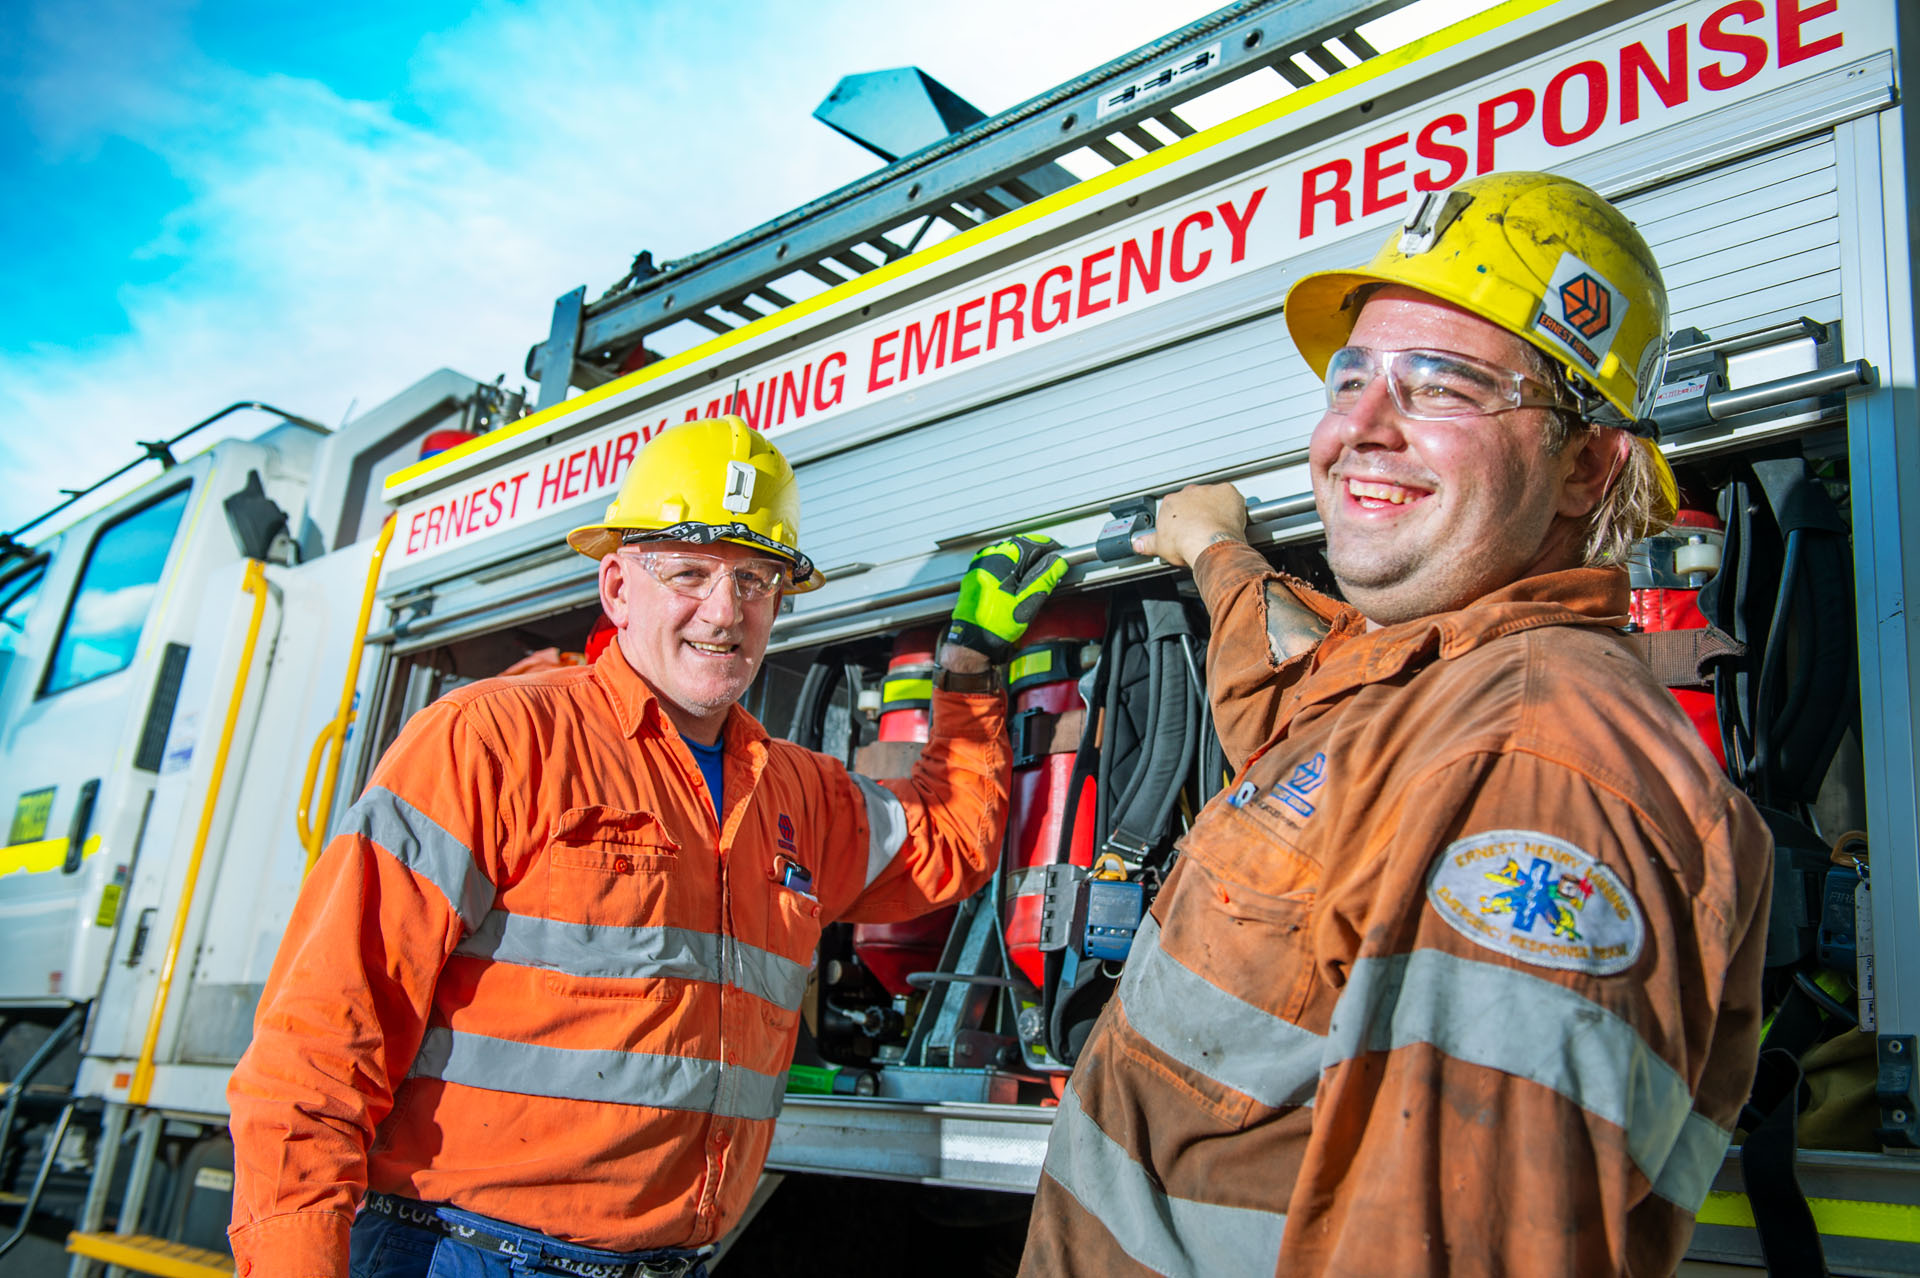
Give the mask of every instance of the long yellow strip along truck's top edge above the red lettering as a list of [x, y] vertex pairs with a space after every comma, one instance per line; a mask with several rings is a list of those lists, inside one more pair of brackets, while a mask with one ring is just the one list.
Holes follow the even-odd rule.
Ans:
[[[1359, 88], [1361, 84], [1380, 79], [1382, 75], [1390, 75], [1394, 71], [1400, 71], [1402, 67], [1409, 67], [1423, 58], [1432, 58], [1434, 54], [1453, 48], [1455, 44], [1465, 44], [1467, 40], [1486, 35], [1496, 27], [1521, 21], [1523, 17], [1528, 17], [1538, 10], [1549, 8], [1553, 4], [1559, 4], [1559, 0], [1507, 0], [1507, 4], [1494, 6], [1484, 13], [1476, 13], [1473, 17], [1453, 23], [1452, 27], [1444, 27], [1428, 36], [1421, 36], [1419, 40], [1402, 44], [1396, 50], [1388, 50], [1377, 58], [1369, 58], [1359, 65], [1329, 75], [1325, 81], [1317, 81], [1313, 84], [1308, 84], [1306, 88], [1296, 88], [1284, 98], [1277, 98], [1275, 102], [1254, 107], [1244, 115], [1236, 115], [1235, 119], [1213, 125], [1212, 129], [1185, 136], [1179, 142], [1169, 142], [1167, 146], [1162, 146], [1158, 152], [1148, 152], [1146, 155], [1123, 163], [1117, 169], [1108, 169], [1106, 173], [1075, 182], [1066, 190], [1058, 190], [1052, 196], [1044, 196], [1041, 200], [1035, 200], [1033, 203], [1025, 203], [1018, 209], [1012, 209], [1010, 213], [1002, 213], [991, 223], [981, 223], [973, 230], [962, 230], [960, 234], [941, 240], [939, 244], [931, 244], [920, 249], [918, 253], [912, 253], [910, 257], [897, 257], [883, 267], [876, 267], [874, 271], [868, 271], [858, 278], [839, 284], [837, 288], [829, 288], [828, 292], [808, 297], [804, 301], [795, 301], [789, 307], [781, 307], [780, 311], [756, 319], [751, 324], [741, 324], [739, 328], [720, 334], [710, 342], [703, 342], [701, 345], [695, 345], [691, 349], [685, 349], [680, 355], [668, 355], [666, 359], [651, 363], [645, 368], [636, 368], [624, 378], [614, 378], [605, 386], [595, 386], [593, 390], [582, 391], [572, 399], [563, 399], [553, 407], [522, 416], [518, 422], [509, 422], [507, 426], [501, 426], [499, 430], [490, 430], [484, 436], [468, 439], [467, 443], [457, 443], [445, 453], [434, 453], [428, 459], [417, 461], [411, 466], [405, 466], [390, 474], [386, 478], [382, 493], [392, 495], [396, 487], [411, 484], [413, 480], [419, 480], [424, 474], [432, 474], [442, 466], [451, 466], [455, 462], [467, 461], [468, 457], [474, 457], [476, 453], [503, 447], [509, 441], [526, 436], [528, 432], [547, 430], [561, 416], [580, 413], [582, 409], [588, 409], [599, 403], [601, 399], [620, 395], [624, 391], [634, 390], [636, 386], [641, 386], [643, 382], [664, 378], [668, 374], [680, 372], [682, 368], [712, 359], [722, 351], [730, 351], [735, 345], [741, 345], [743, 342], [751, 342], [753, 338], [774, 332], [776, 328], [783, 328], [787, 324], [803, 320], [808, 315], [826, 311], [828, 307], [839, 305], [849, 297], [858, 297], [860, 294], [879, 288], [881, 284], [887, 284], [891, 280], [897, 280], [910, 271], [931, 267], [933, 263], [945, 261], [954, 253], [962, 253], [973, 248], [975, 244], [985, 244], [989, 240], [1004, 236], [1010, 230], [1020, 230], [1027, 223], [1033, 223], [1041, 217], [1048, 217], [1052, 213], [1058, 213], [1060, 209], [1071, 207], [1085, 200], [1092, 200], [1094, 196], [1106, 194], [1116, 186], [1121, 186], [1123, 182], [1131, 182], [1148, 173], [1154, 173], [1156, 169], [1164, 169], [1177, 159], [1185, 159], [1187, 155], [1192, 155], [1196, 152], [1219, 146], [1221, 142], [1231, 142], [1233, 138], [1238, 138], [1244, 132], [1260, 129], [1261, 125], [1269, 125], [1281, 117], [1292, 115], [1294, 111], [1302, 111], [1309, 106], [1325, 102], [1327, 98], [1336, 98], [1338, 94], [1344, 94], [1352, 88]], [[772, 359], [774, 353], [768, 351], [766, 357]]]

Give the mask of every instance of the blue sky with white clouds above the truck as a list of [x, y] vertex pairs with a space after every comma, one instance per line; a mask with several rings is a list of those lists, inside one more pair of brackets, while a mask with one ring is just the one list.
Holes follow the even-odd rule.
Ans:
[[522, 382], [559, 294], [874, 169], [808, 115], [845, 73], [993, 113], [1213, 8], [0, 4], [0, 530], [236, 399]]

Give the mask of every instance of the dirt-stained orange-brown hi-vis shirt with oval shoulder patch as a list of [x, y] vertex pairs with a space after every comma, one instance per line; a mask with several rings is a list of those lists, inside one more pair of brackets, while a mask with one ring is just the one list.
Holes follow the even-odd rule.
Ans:
[[[1021, 1272], [1674, 1272], [1772, 840], [1617, 633], [1626, 574], [1377, 631], [1240, 545], [1194, 576], [1242, 771], [1075, 1063]], [[1331, 633], [1275, 662], [1269, 591]]]

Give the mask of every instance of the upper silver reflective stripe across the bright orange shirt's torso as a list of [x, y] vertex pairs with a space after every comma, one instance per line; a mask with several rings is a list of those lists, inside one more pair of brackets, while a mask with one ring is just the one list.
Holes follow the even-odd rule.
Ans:
[[732, 936], [682, 927], [563, 923], [493, 910], [455, 954], [541, 967], [568, 977], [618, 981], [672, 977], [718, 982], [722, 948], [730, 952], [732, 961], [726, 963], [726, 971], [733, 975], [733, 986], [787, 1009], [801, 1006], [801, 996], [806, 994], [806, 963], [795, 963]]

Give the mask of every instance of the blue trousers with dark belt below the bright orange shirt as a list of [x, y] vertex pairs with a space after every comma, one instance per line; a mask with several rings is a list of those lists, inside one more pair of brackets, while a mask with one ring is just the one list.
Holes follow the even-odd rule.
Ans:
[[[413, 1207], [415, 1203], [409, 1203]], [[482, 1249], [449, 1238], [434, 1228], [407, 1224], [374, 1211], [361, 1211], [353, 1219], [349, 1243], [349, 1278], [532, 1278], [534, 1274], [591, 1274], [593, 1265], [620, 1265], [632, 1261], [668, 1263], [685, 1255], [676, 1249], [662, 1251], [601, 1251], [599, 1247], [580, 1247], [563, 1243], [536, 1230], [493, 1220], [457, 1207], [419, 1203], [430, 1215], [476, 1228], [495, 1238], [507, 1238], [520, 1255]], [[549, 1261], [559, 1261], [551, 1265]], [[707, 1263], [687, 1270], [685, 1278], [707, 1278]]]

